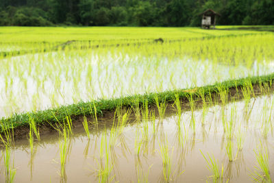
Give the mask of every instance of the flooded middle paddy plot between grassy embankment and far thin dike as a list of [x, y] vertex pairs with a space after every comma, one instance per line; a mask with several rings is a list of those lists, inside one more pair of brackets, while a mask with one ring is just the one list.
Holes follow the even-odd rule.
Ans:
[[[90, 43], [73, 42], [64, 50], [2, 58], [0, 117], [273, 73], [272, 33], [240, 32], [238, 36], [218, 37], [232, 33], [214, 30], [205, 35], [205, 30], [182, 28], [181, 38], [187, 38], [188, 32], [202, 39], [170, 42], [171, 38], [162, 43], [84, 50], [80, 48]], [[175, 34], [176, 38], [180, 34]], [[136, 40], [142, 40], [142, 36]], [[21, 42], [22, 47], [27, 47], [25, 44]]]

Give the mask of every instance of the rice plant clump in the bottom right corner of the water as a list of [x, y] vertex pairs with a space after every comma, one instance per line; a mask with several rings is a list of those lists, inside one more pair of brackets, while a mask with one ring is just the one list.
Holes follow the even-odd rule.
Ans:
[[260, 141], [260, 146], [257, 147], [257, 152], [255, 149], [254, 152], [257, 166], [254, 167], [255, 170], [250, 174], [253, 182], [272, 182], [269, 169], [269, 154], [267, 148], [262, 145], [262, 141]]

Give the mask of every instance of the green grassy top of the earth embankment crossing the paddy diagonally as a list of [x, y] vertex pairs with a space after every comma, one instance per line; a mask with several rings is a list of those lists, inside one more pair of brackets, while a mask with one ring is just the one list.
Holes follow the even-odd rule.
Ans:
[[[232, 90], [241, 86], [246, 86], [247, 83], [253, 85], [259, 84], [264, 86], [269, 84], [270, 88], [274, 81], [274, 73], [271, 75], [257, 76], [257, 77], [245, 77], [238, 80], [229, 80], [221, 83], [216, 83], [209, 86], [202, 86], [198, 88], [190, 88], [188, 90], [172, 90], [162, 93], [148, 93], [145, 95], [132, 95], [128, 97], [121, 97], [117, 99], [101, 99], [97, 101], [79, 102], [68, 106], [60, 106], [59, 108], [53, 108], [49, 110], [40, 110], [36, 112], [27, 112], [25, 114], [14, 114], [8, 119], [1, 119], [1, 125], [8, 125], [9, 127], [21, 127], [29, 125], [30, 119], [36, 121], [38, 125], [45, 123], [56, 123], [58, 121], [66, 120], [66, 117], [71, 117], [73, 120], [75, 117], [84, 116], [86, 114], [103, 115], [104, 112], [115, 110], [116, 106], [122, 106], [130, 108], [136, 104], [136, 101], [142, 106], [144, 101], [148, 102], [148, 105], [155, 105], [155, 95], [158, 95], [159, 101], [166, 100], [174, 101], [175, 95], [179, 95], [179, 98], [188, 101], [188, 96], [192, 95], [195, 99], [200, 97], [199, 90], [203, 90], [204, 95], [212, 95], [219, 93], [220, 88], [222, 90]], [[3, 131], [3, 129], [2, 129]]]

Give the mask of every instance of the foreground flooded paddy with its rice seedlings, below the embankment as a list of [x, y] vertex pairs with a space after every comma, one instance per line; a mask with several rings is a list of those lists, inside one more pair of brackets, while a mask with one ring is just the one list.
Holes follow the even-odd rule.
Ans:
[[[130, 108], [116, 105], [114, 116], [110, 119], [98, 119], [97, 113], [91, 114], [91, 117], [86, 114], [82, 120], [84, 130], [80, 131], [73, 127], [71, 117], [66, 116], [63, 121], [52, 124], [59, 135], [49, 139], [40, 136], [38, 124], [30, 119], [27, 135], [29, 145], [25, 145], [25, 140], [14, 142], [12, 130], [5, 130], [5, 138], [1, 138], [5, 147], [2, 155], [6, 162], [5, 180], [29, 180], [29, 171], [31, 180], [41, 181], [38, 169], [33, 167], [45, 162], [34, 158], [42, 151], [52, 149], [58, 152], [58, 156], [54, 158], [47, 153], [46, 157], [58, 161], [59, 168], [58, 172], [51, 171], [52, 164], [45, 165], [47, 178], [50, 176], [61, 182], [73, 181], [73, 176], [82, 175], [79, 171], [76, 171], [77, 174], [71, 172], [71, 169], [75, 171], [80, 166], [74, 160], [78, 162], [82, 159], [86, 166], [92, 164], [86, 169], [92, 175], [83, 176], [82, 179], [92, 182], [125, 181], [125, 172], [131, 175], [129, 180], [133, 182], [153, 182], [157, 179], [160, 182], [179, 182], [183, 178], [210, 182], [235, 182], [239, 178], [271, 182], [273, 169], [269, 165], [273, 163], [273, 158], [269, 154], [274, 150], [274, 99], [271, 84], [264, 82], [253, 87], [250, 80], [245, 81], [245, 85], [238, 85], [238, 92], [234, 94], [219, 85], [218, 97], [205, 94], [205, 90], [199, 88], [199, 99], [195, 93], [189, 92], [186, 95], [187, 105], [182, 103], [178, 93], [172, 102], [153, 95], [151, 99], [155, 108], [149, 107], [149, 100], [145, 99], [142, 104], [136, 100]], [[256, 93], [260, 93], [260, 97], [256, 97]], [[239, 94], [241, 101], [237, 100]], [[173, 108], [172, 113], [166, 112], [169, 105]], [[252, 148], [254, 153], [250, 156]], [[21, 162], [16, 156], [12, 158], [11, 152], [26, 156], [25, 159], [28, 157], [29, 162]], [[199, 179], [188, 175], [191, 175], [189, 165], [193, 162], [189, 160], [193, 160], [193, 155], [199, 157], [200, 161], [204, 158], [203, 162], [199, 162], [199, 174], [195, 171]], [[28, 163], [31, 167], [16, 168], [14, 162]], [[21, 164], [19, 167], [27, 166]], [[201, 171], [206, 167], [208, 171]], [[250, 169], [248, 176], [247, 168]], [[18, 175], [18, 172], [21, 173]]]

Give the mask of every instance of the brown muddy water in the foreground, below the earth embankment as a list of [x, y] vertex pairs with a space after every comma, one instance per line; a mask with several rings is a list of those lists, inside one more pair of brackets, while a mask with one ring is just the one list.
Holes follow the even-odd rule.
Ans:
[[[211, 182], [212, 172], [207, 169], [201, 152], [207, 158], [207, 154], [214, 155], [220, 170], [223, 164], [224, 182], [251, 182], [250, 174], [258, 167], [255, 152], [261, 150], [268, 151], [269, 172], [273, 179], [273, 102], [274, 95], [271, 95], [253, 98], [248, 105], [245, 101], [235, 101], [225, 106], [213, 105], [208, 108], [204, 119], [203, 110], [195, 110], [193, 114], [184, 111], [179, 123], [174, 111], [162, 120], [156, 117], [155, 131], [153, 120], [136, 121], [119, 128], [121, 134], [114, 145], [110, 145], [114, 139], [110, 126], [92, 130], [90, 140], [83, 128], [76, 128], [67, 141], [64, 173], [60, 173], [60, 141], [63, 140], [58, 134], [42, 136], [32, 153], [26, 139], [18, 141], [10, 149], [10, 164], [14, 160], [16, 169], [14, 182], [99, 182], [102, 178], [99, 170], [106, 168], [107, 157], [110, 167], [108, 179], [112, 182], [166, 182], [161, 147], [168, 149], [170, 159], [167, 164], [171, 165], [171, 171], [166, 174], [170, 175], [170, 182]], [[271, 120], [266, 123], [266, 119]], [[232, 162], [227, 156], [229, 138], [225, 136], [223, 120], [225, 124], [229, 121], [234, 124]], [[265, 126], [269, 126], [269, 131]], [[239, 130], [244, 141], [238, 151]], [[105, 148], [108, 149], [107, 153]], [[5, 182], [4, 153], [3, 149], [0, 182]]]

